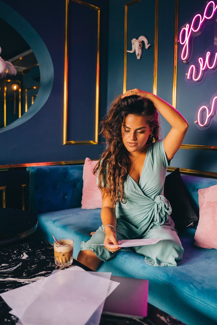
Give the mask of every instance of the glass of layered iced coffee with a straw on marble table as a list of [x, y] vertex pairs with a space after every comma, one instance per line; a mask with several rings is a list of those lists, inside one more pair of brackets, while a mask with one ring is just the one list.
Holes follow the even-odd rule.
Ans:
[[53, 243], [54, 260], [57, 266], [70, 266], [73, 262], [74, 240], [71, 238], [58, 238]]

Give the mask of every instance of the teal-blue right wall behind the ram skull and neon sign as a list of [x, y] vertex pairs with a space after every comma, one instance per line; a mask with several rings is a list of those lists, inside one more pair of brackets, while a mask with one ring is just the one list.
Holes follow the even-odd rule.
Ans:
[[[108, 105], [123, 91], [124, 76], [124, 0], [110, 0], [109, 7], [109, 57], [108, 57]], [[179, 32], [181, 27], [194, 17], [198, 10], [202, 11], [205, 1], [179, 0]], [[154, 17], [155, 1], [142, 0], [128, 6], [128, 49], [132, 38], [145, 35], [151, 44], [148, 50], [142, 50], [141, 60], [135, 53], [127, 53], [127, 89], [140, 88], [152, 91], [153, 56], [154, 56]], [[133, 13], [133, 15], [132, 15]], [[217, 14], [216, 14], [217, 17]], [[175, 1], [159, 0], [158, 19], [158, 68], [157, 95], [172, 104], [173, 91], [173, 58], [174, 58], [174, 21]], [[140, 26], [138, 30], [138, 25]], [[214, 25], [206, 25], [204, 31], [194, 39], [191, 61], [213, 45]], [[181, 45], [178, 45], [180, 56]], [[133, 67], [133, 68], [132, 68]], [[183, 144], [217, 146], [217, 121], [212, 121], [209, 129], [199, 130], [195, 125], [195, 114], [198, 105], [209, 103], [217, 91], [217, 72], [207, 73], [199, 85], [185, 82], [186, 64], [178, 59], [177, 72], [177, 104], [176, 108], [189, 123], [189, 130]], [[133, 71], [132, 71], [133, 69]], [[170, 125], [161, 118], [162, 137], [170, 130]], [[216, 150], [179, 149], [173, 158], [173, 167], [217, 172]]]

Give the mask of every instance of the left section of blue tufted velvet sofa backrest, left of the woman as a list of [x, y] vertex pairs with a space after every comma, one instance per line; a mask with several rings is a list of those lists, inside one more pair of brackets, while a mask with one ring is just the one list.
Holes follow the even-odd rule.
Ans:
[[83, 165], [28, 167], [27, 173], [33, 214], [81, 206]]

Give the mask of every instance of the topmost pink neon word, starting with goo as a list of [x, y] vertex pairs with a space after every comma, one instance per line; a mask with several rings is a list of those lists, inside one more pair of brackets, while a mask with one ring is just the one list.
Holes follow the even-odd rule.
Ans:
[[215, 5], [214, 1], [209, 1], [204, 9], [203, 15], [197, 14], [192, 19], [191, 24], [186, 24], [179, 35], [179, 42], [183, 46], [183, 50], [181, 53], [181, 58], [183, 61], [187, 61], [190, 59], [192, 54], [192, 49], [190, 49], [190, 41], [195, 36], [198, 36], [204, 27], [205, 23], [211, 23], [212, 19], [215, 16], [217, 10], [217, 5]]

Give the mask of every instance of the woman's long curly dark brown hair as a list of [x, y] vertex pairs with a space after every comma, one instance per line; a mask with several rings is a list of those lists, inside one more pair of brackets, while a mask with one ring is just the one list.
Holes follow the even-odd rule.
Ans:
[[[107, 194], [111, 196], [113, 206], [117, 202], [126, 202], [124, 182], [131, 160], [122, 141], [121, 127], [128, 114], [145, 117], [150, 128], [153, 128], [153, 137], [156, 140], [159, 138], [158, 113], [150, 99], [132, 95], [124, 98], [119, 96], [114, 100], [101, 122], [100, 134], [103, 134], [106, 140], [106, 147], [93, 170], [94, 174], [99, 170], [98, 187], [102, 191], [103, 197]], [[152, 144], [153, 137], [149, 136], [148, 146]]]

